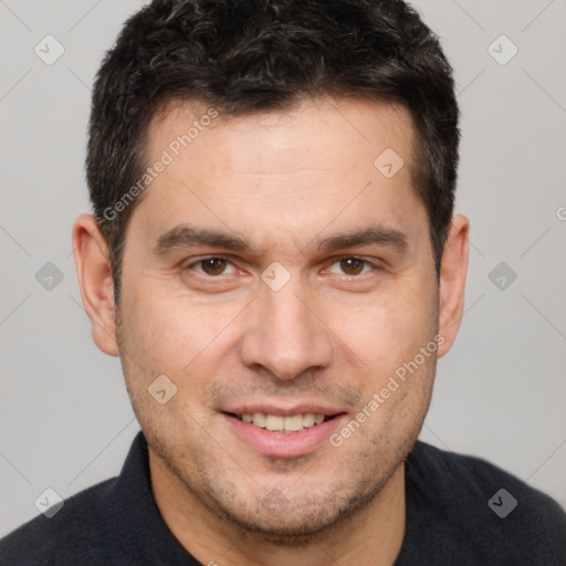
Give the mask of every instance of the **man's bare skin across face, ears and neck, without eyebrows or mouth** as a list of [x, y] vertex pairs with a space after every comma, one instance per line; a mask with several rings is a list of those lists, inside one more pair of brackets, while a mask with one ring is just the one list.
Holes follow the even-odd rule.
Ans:
[[[329, 102], [220, 116], [199, 133], [137, 202], [119, 308], [93, 217], [73, 227], [93, 338], [120, 356], [157, 505], [203, 564], [390, 565], [402, 544], [403, 460], [428, 410], [437, 357], [462, 316], [469, 222], [452, 219], [439, 281], [411, 181], [409, 113]], [[147, 163], [206, 109], [166, 108], [148, 132]], [[388, 147], [405, 160], [390, 179], [374, 167]], [[251, 250], [180, 245], [157, 254], [157, 238], [180, 223], [235, 233]], [[375, 224], [401, 232], [405, 248], [318, 247]], [[230, 261], [205, 271], [210, 263], [198, 262], [211, 255]], [[369, 263], [340, 262], [352, 256]], [[275, 261], [291, 277], [279, 291], [261, 279]], [[311, 401], [337, 408], [345, 423], [437, 335], [437, 353], [339, 448], [324, 441], [300, 457], [265, 455], [221, 413], [230, 403]], [[165, 405], [147, 391], [163, 374], [177, 386]]]

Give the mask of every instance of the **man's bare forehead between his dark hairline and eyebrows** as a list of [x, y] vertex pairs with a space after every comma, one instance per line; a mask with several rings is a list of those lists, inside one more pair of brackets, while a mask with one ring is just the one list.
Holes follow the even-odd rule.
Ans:
[[262, 239], [374, 220], [410, 231], [424, 214], [401, 105], [324, 98], [226, 115], [176, 103], [150, 124], [145, 154], [149, 167], [166, 163], [134, 212], [147, 234], [184, 222]]

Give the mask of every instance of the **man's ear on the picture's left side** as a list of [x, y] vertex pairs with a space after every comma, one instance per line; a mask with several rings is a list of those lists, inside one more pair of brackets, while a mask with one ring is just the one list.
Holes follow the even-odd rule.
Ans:
[[94, 343], [108, 356], [117, 356], [114, 281], [107, 259], [108, 245], [91, 214], [81, 214], [75, 220], [73, 250], [81, 296], [92, 323]]

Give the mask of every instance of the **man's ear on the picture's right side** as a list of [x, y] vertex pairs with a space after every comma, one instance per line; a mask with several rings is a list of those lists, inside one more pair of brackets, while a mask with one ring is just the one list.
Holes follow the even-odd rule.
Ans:
[[440, 271], [439, 334], [444, 340], [439, 343], [438, 357], [451, 348], [463, 316], [469, 232], [468, 218], [452, 218]]

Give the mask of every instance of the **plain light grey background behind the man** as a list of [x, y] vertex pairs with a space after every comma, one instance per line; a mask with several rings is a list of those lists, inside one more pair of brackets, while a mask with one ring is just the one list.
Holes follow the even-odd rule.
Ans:
[[[422, 439], [491, 460], [566, 506], [566, 2], [413, 3], [455, 67], [457, 210], [472, 223], [467, 311]], [[0, 0], [0, 535], [39, 513], [46, 488], [66, 497], [117, 474], [138, 430], [119, 360], [91, 339], [71, 226], [90, 210], [93, 76], [140, 6]], [[34, 53], [48, 34], [65, 50], [52, 65]], [[507, 59], [511, 44], [489, 52], [502, 34], [518, 49], [504, 65], [492, 54]], [[48, 262], [63, 275], [51, 290], [35, 277]], [[492, 282], [500, 262], [507, 273]]]

